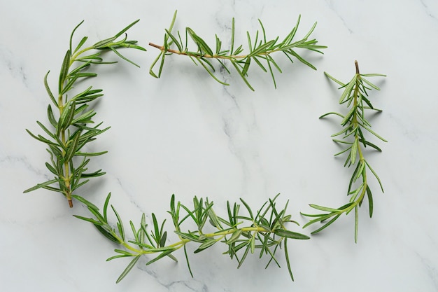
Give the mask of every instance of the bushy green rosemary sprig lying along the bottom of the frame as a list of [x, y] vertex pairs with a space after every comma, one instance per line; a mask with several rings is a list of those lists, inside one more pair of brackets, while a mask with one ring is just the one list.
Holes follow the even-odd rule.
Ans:
[[[107, 260], [126, 257], [132, 258], [125, 270], [120, 274], [117, 282], [121, 281], [129, 273], [141, 256], [155, 255], [146, 265], [155, 263], [155, 261], [164, 257], [178, 261], [173, 253], [181, 248], [184, 250], [188, 270], [193, 277], [186, 249], [187, 244], [197, 244], [198, 246], [195, 253], [199, 253], [217, 242], [221, 242], [227, 246], [227, 250], [224, 254], [228, 254], [231, 259], [235, 258], [238, 263], [238, 268], [242, 265], [246, 256], [248, 256], [248, 253], [255, 253], [255, 250], [260, 250], [258, 252], [259, 258], [262, 258], [262, 256], [269, 258], [266, 267], [272, 262], [280, 267], [275, 253], [278, 249], [282, 248], [282, 243], [284, 242], [283, 248], [286, 263], [293, 281], [287, 241], [288, 239], [309, 239], [307, 235], [285, 228], [285, 223], [293, 222], [297, 225], [298, 223], [292, 221], [291, 216], [286, 214], [288, 203], [285, 204], [283, 209], [277, 209], [275, 200], [278, 195], [276, 195], [274, 199], [269, 199], [265, 202], [257, 213], [254, 213], [249, 205], [241, 199], [240, 201], [246, 209], [246, 215], [239, 213], [240, 204], [234, 203], [231, 205], [227, 202], [227, 217], [216, 215], [213, 209], [213, 202], [210, 202], [208, 199], [204, 201], [202, 198], [194, 197], [193, 207], [190, 209], [181, 204], [181, 202], [175, 203], [175, 196], [172, 195], [168, 213], [174, 224], [174, 233], [178, 235], [178, 240], [169, 245], [166, 245], [167, 231], [164, 231], [165, 220], [162, 221], [162, 223], [158, 223], [155, 214], [152, 214], [153, 228], [151, 228], [150, 233], [148, 233], [145, 214], [141, 216], [138, 227], [136, 227], [132, 221], [129, 221], [132, 239], [128, 239], [120, 215], [113, 205], [111, 205], [111, 209], [113, 209], [115, 217], [117, 218], [117, 228], [113, 228], [113, 226], [108, 223], [107, 211], [111, 193], [106, 197], [102, 212], [99, 211], [98, 207], [83, 197], [78, 195], [73, 195], [73, 197], [83, 202], [83, 204], [87, 206], [87, 209], [94, 215], [94, 218], [76, 217], [94, 224], [97, 230], [106, 238], [119, 244], [122, 248], [115, 249], [115, 256], [111, 256], [111, 258]], [[183, 231], [183, 223], [187, 223], [187, 221], [195, 223], [195, 225], [191, 226], [192, 228], [195, 226], [196, 229]], [[209, 231], [205, 231], [207, 229], [206, 225], [208, 225], [206, 224], [207, 221], [209, 221], [209, 225], [211, 225], [209, 226], [211, 229]]]

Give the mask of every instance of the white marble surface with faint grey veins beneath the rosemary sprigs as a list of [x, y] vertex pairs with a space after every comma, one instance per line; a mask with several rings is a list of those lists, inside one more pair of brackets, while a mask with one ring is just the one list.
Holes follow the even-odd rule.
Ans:
[[[266, 262], [251, 257], [236, 270], [222, 246], [213, 246], [192, 256], [193, 279], [178, 252], [177, 265], [162, 260], [146, 267], [143, 259], [115, 284], [127, 261], [105, 262], [115, 246], [71, 216], [87, 214], [78, 202], [69, 209], [47, 190], [22, 193], [49, 177], [48, 153], [24, 129], [38, 132], [35, 121], [45, 122], [43, 76], [50, 69], [56, 88], [71, 29], [85, 20], [77, 36], [93, 41], [141, 19], [129, 37], [147, 46], [162, 42], [175, 9], [176, 28], [190, 26], [208, 41], [214, 33], [227, 40], [234, 17], [241, 43], [247, 30], [259, 28], [258, 18], [269, 36], [284, 36], [301, 14], [299, 34], [318, 21], [313, 35], [329, 48], [309, 55], [318, 71], [282, 62], [277, 90], [254, 67], [255, 92], [236, 74], [224, 87], [181, 57], [169, 57], [162, 78], [152, 78], [158, 51], [150, 47], [127, 53], [141, 69], [123, 62], [97, 69], [93, 85], [106, 96], [96, 120], [111, 130], [94, 143], [109, 153], [92, 165], [107, 174], [80, 195], [101, 206], [111, 191], [126, 223], [139, 221], [141, 212], [168, 218], [172, 193], [186, 203], [208, 196], [219, 211], [227, 200], [243, 197], [257, 208], [281, 193], [302, 225], [299, 211], [312, 211], [307, 204], [344, 204], [351, 169], [333, 158], [339, 147], [330, 134], [338, 125], [318, 120], [344, 109], [323, 71], [347, 81], [358, 60], [363, 73], [388, 75], [374, 79], [382, 90], [372, 99], [383, 113], [372, 123], [389, 142], [380, 143], [383, 153], [368, 154], [385, 193], [375, 188], [372, 219], [361, 209], [358, 244], [353, 215], [309, 241], [290, 241], [295, 282], [282, 256], [281, 269], [264, 270]], [[0, 27], [2, 291], [438, 291], [437, 1], [1, 0]]]

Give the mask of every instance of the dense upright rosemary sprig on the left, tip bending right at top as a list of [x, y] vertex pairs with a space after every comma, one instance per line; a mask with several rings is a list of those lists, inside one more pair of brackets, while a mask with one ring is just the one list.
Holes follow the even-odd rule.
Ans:
[[[137, 41], [128, 41], [125, 34], [138, 21], [132, 22], [118, 32], [118, 34], [115, 34], [115, 36], [98, 41], [87, 48], [83, 48], [84, 43], [88, 39], [87, 36], [84, 36], [75, 48], [72, 47], [73, 34], [83, 21], [71, 32], [69, 50], [66, 51], [61, 70], [59, 71], [58, 95], [56, 98], [52, 94], [52, 90], [50, 90], [47, 82], [47, 76], [50, 71], [44, 77], [45, 89], [52, 104], [57, 108], [57, 117], [55, 117], [55, 112], [49, 104], [47, 115], [50, 125], [46, 126], [39, 121], [36, 122], [43, 129], [46, 136], [33, 134], [26, 129], [31, 137], [48, 146], [47, 151], [50, 154], [50, 162], [46, 162], [45, 166], [55, 177], [24, 190], [24, 193], [37, 190], [38, 188], [45, 188], [62, 193], [69, 202], [69, 206], [73, 207], [71, 200], [73, 192], [87, 183], [90, 178], [105, 174], [101, 169], [87, 172], [87, 165], [90, 162], [90, 156], [102, 155], [106, 151], [96, 153], [82, 151], [86, 144], [94, 141], [99, 134], [109, 129], [109, 127], [99, 128], [102, 123], [90, 126], [90, 124], [94, 123], [92, 118], [96, 113], [90, 109], [88, 103], [101, 97], [103, 95], [101, 93], [102, 90], [92, 89], [92, 86], [90, 86], [82, 92], [73, 95], [73, 97], [69, 97], [68, 93], [73, 89], [77, 81], [97, 76], [96, 73], [85, 71], [90, 65], [116, 63], [104, 62], [101, 57], [103, 51], [111, 50], [115, 55], [138, 67], [137, 64], [121, 55], [118, 51], [119, 48], [146, 50], [141, 46], [137, 46]], [[123, 34], [125, 36], [117, 41]], [[90, 50], [97, 50], [97, 52], [90, 53]]]

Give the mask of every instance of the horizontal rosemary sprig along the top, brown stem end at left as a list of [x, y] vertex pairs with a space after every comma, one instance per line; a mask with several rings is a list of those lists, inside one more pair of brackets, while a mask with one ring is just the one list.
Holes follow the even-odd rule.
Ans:
[[[176, 34], [172, 33], [172, 29], [174, 27], [174, 23], [176, 20], [176, 11], [174, 13], [174, 18], [171, 21], [171, 25], [169, 29], [166, 29], [164, 34], [164, 44], [163, 46], [158, 46], [155, 43], [149, 43], [150, 46], [153, 46], [155, 48], [158, 48], [161, 52], [160, 55], [157, 56], [155, 61], [150, 67], [150, 75], [154, 76], [155, 78], [160, 78], [162, 74], [162, 69], [164, 67], [164, 59], [167, 55], [176, 54], [176, 55], [185, 55], [190, 57], [190, 59], [195, 63], [195, 65], [201, 64], [201, 66], [209, 73], [209, 75], [219, 83], [223, 85], [229, 85], [228, 83], [225, 83], [224, 81], [220, 81], [220, 79], [216, 76], [215, 71], [216, 69], [213, 67], [213, 64], [211, 60], [216, 60], [220, 67], [225, 69], [225, 71], [228, 72], [228, 74], [231, 74], [229, 69], [227, 68], [225, 61], [229, 61], [232, 64], [232, 67], [237, 71], [239, 76], [243, 79], [243, 81], [248, 85], [248, 88], [251, 90], [254, 90], [253, 87], [248, 82], [247, 76], [248, 76], [248, 69], [250, 67], [251, 63], [256, 63], [262, 71], [267, 72], [271, 74], [272, 81], [274, 82], [274, 87], [276, 88], [276, 81], [274, 78], [274, 71], [273, 67], [275, 67], [280, 73], [281, 69], [274, 60], [273, 57], [271, 57], [272, 53], [276, 52], [282, 52], [290, 62], [293, 63], [292, 57], [297, 58], [300, 62], [306, 64], [307, 66], [311, 67], [312, 69], [316, 70], [316, 67], [314, 67], [311, 63], [304, 60], [304, 58], [299, 55], [295, 50], [297, 48], [306, 49], [315, 51], [317, 53], [323, 53], [320, 51], [320, 49], [327, 48], [326, 46], [319, 46], [317, 45], [318, 41], [316, 39], [309, 39], [311, 33], [313, 32], [313, 29], [316, 27], [316, 22], [311, 27], [309, 32], [302, 37], [302, 39], [298, 41], [294, 41], [295, 34], [298, 29], [299, 20], [301, 16], [299, 16], [297, 20], [297, 24], [295, 27], [292, 28], [290, 33], [285, 36], [283, 41], [279, 41], [279, 37], [277, 36], [275, 39], [271, 39], [267, 41], [267, 36], [264, 31], [264, 27], [262, 22], [259, 20], [260, 27], [262, 29], [262, 34], [260, 35], [259, 31], [255, 33], [255, 37], [251, 39], [249, 32], [247, 32], [247, 38], [248, 38], [248, 50], [249, 53], [243, 54], [243, 46], [236, 47], [234, 45], [234, 18], [232, 20], [232, 30], [231, 30], [231, 46], [228, 50], [222, 49], [222, 41], [218, 38], [217, 35], [215, 35], [216, 38], [216, 46], [209, 46], [207, 45], [206, 41], [202, 39], [198, 34], [195, 33], [193, 29], [190, 29], [190, 27], [186, 27], [185, 29], [185, 41], [182, 40], [180, 32], [176, 32]], [[188, 48], [188, 38], [190, 36], [190, 39], [195, 43], [195, 49], [189, 49]], [[212, 49], [214, 48], [214, 50]], [[158, 73], [156, 74], [154, 71], [155, 65], [157, 65], [158, 61], [160, 60], [160, 69], [158, 70]], [[263, 64], [265, 63], [265, 64]]]

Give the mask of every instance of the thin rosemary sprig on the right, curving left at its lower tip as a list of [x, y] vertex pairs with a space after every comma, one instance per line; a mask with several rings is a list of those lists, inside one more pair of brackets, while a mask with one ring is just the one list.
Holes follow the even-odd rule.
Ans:
[[[360, 74], [357, 61], [355, 61], [355, 67], [356, 67], [355, 76], [353, 76], [351, 81], [346, 84], [341, 83], [341, 81], [338, 81], [337, 79], [330, 76], [330, 74], [324, 72], [328, 78], [332, 79], [332, 81], [341, 85], [341, 88], [344, 88], [344, 92], [341, 95], [341, 99], [339, 99], [339, 104], [347, 104], [347, 106], [351, 107], [351, 109], [348, 111], [346, 116], [342, 115], [341, 113], [334, 113], [334, 112], [325, 113], [323, 116], [320, 116], [320, 118], [325, 118], [326, 116], [333, 114], [336, 116], [340, 116], [342, 118], [341, 126], [344, 127], [344, 129], [341, 130], [340, 132], [332, 134], [332, 137], [337, 137], [343, 134], [344, 137], [342, 137], [342, 139], [333, 139], [333, 141], [340, 144], [346, 144], [348, 145], [348, 147], [346, 147], [343, 151], [335, 155], [348, 153], [344, 167], [345, 166], [350, 167], [351, 165], [354, 165], [355, 162], [358, 162], [351, 176], [350, 183], [348, 184], [347, 195], [351, 195], [350, 201], [347, 204], [344, 204], [344, 206], [339, 207], [338, 209], [334, 209], [330, 207], [322, 207], [316, 204], [310, 204], [310, 207], [312, 207], [313, 209], [324, 211], [326, 213], [323, 214], [302, 213], [302, 215], [314, 218], [308, 223], [306, 223], [303, 226], [303, 228], [306, 228], [307, 226], [313, 223], [316, 222], [323, 223], [324, 221], [330, 219], [330, 221], [325, 223], [323, 226], [311, 232], [311, 234], [315, 234], [327, 228], [327, 226], [329, 226], [334, 221], [336, 221], [337, 218], [341, 216], [341, 214], [349, 214], [351, 211], [354, 210], [355, 211], [354, 239], [355, 242], [358, 242], [359, 207], [362, 205], [365, 195], [367, 195], [368, 197], [369, 217], [371, 218], [373, 214], [372, 191], [369, 188], [367, 169], [370, 172], [372, 172], [372, 174], [376, 177], [383, 193], [383, 186], [379, 179], [379, 176], [377, 176], [376, 172], [374, 172], [374, 169], [372, 169], [372, 167], [365, 159], [364, 151], [363, 151], [363, 148], [366, 148], [367, 146], [370, 146], [371, 148], [374, 148], [377, 151], [381, 151], [381, 148], [379, 148], [372, 142], [367, 141], [367, 139], [365, 139], [364, 133], [369, 132], [373, 134], [375, 137], [386, 142], [386, 139], [383, 139], [381, 136], [379, 136], [379, 134], [376, 134], [376, 132], [371, 130], [371, 124], [365, 118], [365, 109], [377, 111], [377, 112], [381, 112], [381, 110], [375, 109], [374, 106], [372, 106], [371, 102], [369, 101], [368, 93], [367, 93], [367, 90], [371, 90], [372, 88], [375, 90], [379, 90], [379, 88], [373, 83], [367, 81], [367, 79], [365, 79], [364, 77], [385, 76], [385, 75]], [[356, 183], [356, 181], [358, 181], [358, 183]]]

